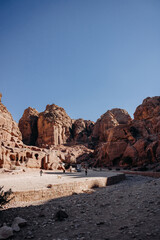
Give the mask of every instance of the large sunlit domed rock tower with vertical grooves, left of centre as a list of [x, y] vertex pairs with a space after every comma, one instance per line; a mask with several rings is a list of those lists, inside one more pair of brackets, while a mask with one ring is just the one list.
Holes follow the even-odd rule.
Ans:
[[55, 104], [47, 105], [39, 114], [37, 145], [60, 145], [70, 139], [72, 120], [65, 110]]

